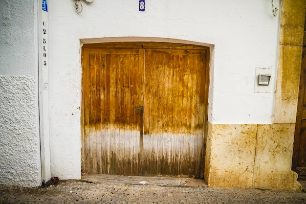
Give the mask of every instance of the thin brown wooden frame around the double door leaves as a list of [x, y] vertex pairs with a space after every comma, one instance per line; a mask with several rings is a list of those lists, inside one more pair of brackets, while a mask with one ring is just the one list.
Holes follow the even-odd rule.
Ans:
[[[83, 71], [83, 53], [84, 48], [152, 48], [152, 49], [202, 49], [206, 50], [206, 73], [205, 73], [205, 102], [204, 102], [204, 123], [203, 123], [203, 144], [202, 144], [202, 158], [200, 164], [200, 178], [204, 178], [204, 164], [205, 164], [205, 151], [206, 140], [208, 134], [208, 96], [209, 96], [209, 74], [210, 74], [210, 48], [203, 45], [181, 44], [181, 43], [160, 43], [160, 42], [115, 42], [115, 43], [93, 43], [84, 44], [82, 46], [81, 64]], [[83, 76], [81, 76], [81, 136], [84, 137], [84, 99], [83, 99]], [[82, 140], [82, 156], [84, 155], [84, 142]], [[84, 159], [82, 158], [81, 170], [84, 170]]]

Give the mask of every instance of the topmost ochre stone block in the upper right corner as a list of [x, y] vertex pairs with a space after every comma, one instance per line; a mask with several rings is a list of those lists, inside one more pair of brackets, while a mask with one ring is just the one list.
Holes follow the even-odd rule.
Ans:
[[306, 0], [283, 0], [282, 25], [304, 26]]

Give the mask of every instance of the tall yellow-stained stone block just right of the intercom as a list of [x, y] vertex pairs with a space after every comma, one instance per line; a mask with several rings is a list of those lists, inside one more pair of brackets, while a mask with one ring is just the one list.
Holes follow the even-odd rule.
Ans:
[[302, 46], [280, 45], [273, 123], [295, 123]]

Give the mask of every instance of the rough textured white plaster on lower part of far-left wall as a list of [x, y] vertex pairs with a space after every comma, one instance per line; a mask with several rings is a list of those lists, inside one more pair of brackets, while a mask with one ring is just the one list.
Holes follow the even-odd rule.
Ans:
[[35, 80], [0, 75], [0, 183], [39, 186]]

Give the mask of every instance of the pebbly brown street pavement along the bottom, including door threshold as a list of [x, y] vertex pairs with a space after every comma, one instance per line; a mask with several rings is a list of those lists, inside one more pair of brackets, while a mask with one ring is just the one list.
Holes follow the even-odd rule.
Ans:
[[[86, 180], [86, 181], [85, 181]], [[190, 178], [104, 175], [40, 188], [0, 185], [2, 204], [306, 204], [306, 193], [208, 187]]]

